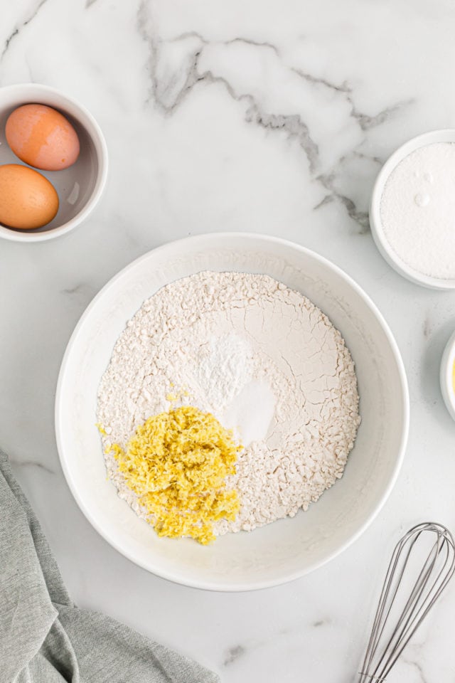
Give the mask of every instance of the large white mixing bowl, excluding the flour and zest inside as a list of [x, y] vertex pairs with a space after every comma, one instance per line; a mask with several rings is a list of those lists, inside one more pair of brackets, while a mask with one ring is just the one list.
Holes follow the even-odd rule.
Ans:
[[[266, 273], [299, 290], [340, 329], [358, 374], [362, 424], [343, 478], [294, 519], [212, 546], [160, 539], [106, 480], [95, 427], [97, 387], [127, 320], [160, 287], [201, 270]], [[77, 324], [58, 380], [55, 426], [65, 477], [82, 512], [114, 548], [178, 583], [217, 591], [274, 586], [321, 566], [378, 514], [395, 483], [409, 421], [400, 352], [373, 302], [343, 271], [299, 245], [228, 233], [164, 245], [134, 261]]]

